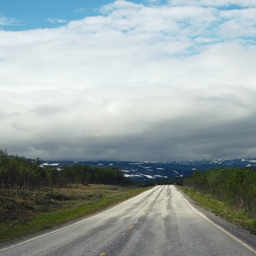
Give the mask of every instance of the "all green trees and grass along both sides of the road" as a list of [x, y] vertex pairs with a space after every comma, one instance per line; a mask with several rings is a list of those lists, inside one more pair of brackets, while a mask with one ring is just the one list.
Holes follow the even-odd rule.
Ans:
[[0, 150], [0, 242], [96, 213], [155, 184], [179, 185], [203, 208], [256, 234], [255, 167], [196, 170], [133, 184], [114, 166], [74, 164], [57, 170], [40, 164], [39, 158], [32, 162]]

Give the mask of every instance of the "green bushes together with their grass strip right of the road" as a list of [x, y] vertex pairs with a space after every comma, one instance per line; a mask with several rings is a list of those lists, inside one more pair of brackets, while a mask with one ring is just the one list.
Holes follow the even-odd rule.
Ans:
[[198, 205], [256, 234], [255, 167], [196, 170], [182, 185]]

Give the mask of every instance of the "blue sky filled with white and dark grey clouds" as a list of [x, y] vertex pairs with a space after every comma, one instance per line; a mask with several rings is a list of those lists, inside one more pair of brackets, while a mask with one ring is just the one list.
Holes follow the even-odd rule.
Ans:
[[0, 2], [0, 148], [43, 160], [256, 157], [256, 0]]

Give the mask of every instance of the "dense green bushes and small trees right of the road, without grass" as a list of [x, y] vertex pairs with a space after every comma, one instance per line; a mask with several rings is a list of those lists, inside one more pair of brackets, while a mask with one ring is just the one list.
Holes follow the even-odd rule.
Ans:
[[184, 186], [212, 194], [256, 218], [256, 167], [196, 170], [184, 180]]

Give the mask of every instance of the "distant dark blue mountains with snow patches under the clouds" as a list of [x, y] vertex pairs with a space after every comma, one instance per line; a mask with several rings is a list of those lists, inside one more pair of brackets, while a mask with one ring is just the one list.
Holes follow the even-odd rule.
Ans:
[[134, 182], [144, 182], [152, 179], [175, 178], [191, 174], [194, 170], [206, 171], [211, 167], [244, 167], [256, 166], [256, 158], [234, 160], [197, 160], [197, 161], [166, 161], [166, 162], [115, 162], [115, 161], [43, 161], [41, 166], [62, 168], [73, 164], [87, 164], [90, 166], [106, 167], [118, 166], [126, 177]]

